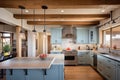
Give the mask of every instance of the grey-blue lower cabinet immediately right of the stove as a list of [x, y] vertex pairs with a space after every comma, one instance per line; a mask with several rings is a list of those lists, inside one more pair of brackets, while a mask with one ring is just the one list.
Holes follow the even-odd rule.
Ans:
[[89, 64], [89, 52], [78, 52], [78, 64]]

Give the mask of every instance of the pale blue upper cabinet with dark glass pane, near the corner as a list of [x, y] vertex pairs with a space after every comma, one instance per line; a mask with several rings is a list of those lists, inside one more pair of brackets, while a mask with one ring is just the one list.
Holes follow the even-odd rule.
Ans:
[[89, 29], [89, 43], [97, 43], [97, 29], [90, 28]]

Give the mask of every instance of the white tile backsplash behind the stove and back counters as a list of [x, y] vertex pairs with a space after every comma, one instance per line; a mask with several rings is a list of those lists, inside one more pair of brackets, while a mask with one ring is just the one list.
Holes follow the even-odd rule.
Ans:
[[76, 44], [75, 40], [73, 39], [62, 39], [62, 44], [54, 44], [52, 45], [52, 48], [57, 46], [57, 47], [61, 47], [62, 49], [66, 49], [66, 48], [71, 48], [71, 49], [75, 49], [77, 50], [78, 47], [80, 46], [81, 50], [85, 50], [86, 49], [86, 45], [88, 45], [90, 48], [93, 48], [93, 44]]

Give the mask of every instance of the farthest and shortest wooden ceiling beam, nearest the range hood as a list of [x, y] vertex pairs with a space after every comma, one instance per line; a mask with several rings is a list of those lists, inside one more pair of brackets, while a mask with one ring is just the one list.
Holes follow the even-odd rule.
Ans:
[[[27, 21], [28, 25], [44, 25], [44, 21]], [[98, 25], [99, 21], [46, 21], [46, 25]]]

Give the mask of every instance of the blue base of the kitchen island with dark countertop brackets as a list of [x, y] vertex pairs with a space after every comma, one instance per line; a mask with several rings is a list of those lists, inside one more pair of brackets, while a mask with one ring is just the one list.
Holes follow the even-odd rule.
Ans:
[[6, 80], [64, 80], [64, 65], [51, 65], [50, 69], [7, 69]]

